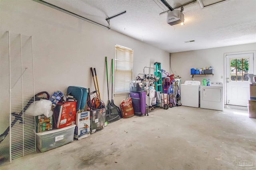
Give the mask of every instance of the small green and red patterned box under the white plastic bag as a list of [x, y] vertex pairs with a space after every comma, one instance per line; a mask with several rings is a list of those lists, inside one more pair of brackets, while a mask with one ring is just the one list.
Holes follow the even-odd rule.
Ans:
[[52, 116], [46, 117], [45, 115], [39, 115], [36, 119], [36, 133], [52, 130]]

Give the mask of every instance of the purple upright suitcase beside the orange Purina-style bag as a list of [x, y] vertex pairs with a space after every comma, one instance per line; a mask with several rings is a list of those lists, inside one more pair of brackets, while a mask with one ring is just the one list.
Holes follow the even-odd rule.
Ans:
[[134, 115], [146, 115], [146, 92], [131, 92]]

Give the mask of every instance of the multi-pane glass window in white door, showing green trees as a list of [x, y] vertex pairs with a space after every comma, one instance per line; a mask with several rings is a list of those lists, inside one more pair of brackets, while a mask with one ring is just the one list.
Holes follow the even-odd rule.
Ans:
[[231, 81], [248, 81], [249, 58], [230, 59]]

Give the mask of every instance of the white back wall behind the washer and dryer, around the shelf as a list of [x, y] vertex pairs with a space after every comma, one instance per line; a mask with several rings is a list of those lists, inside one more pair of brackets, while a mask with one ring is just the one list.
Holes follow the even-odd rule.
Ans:
[[[218, 81], [224, 84], [224, 79], [221, 78], [221, 76], [224, 77], [224, 54], [255, 50], [256, 43], [251, 43], [244, 45], [234, 45], [212, 49], [172, 53], [171, 68], [174, 74], [180, 75], [182, 77], [181, 82], [184, 83], [185, 80], [192, 80], [192, 78], [190, 78], [190, 68], [202, 68], [212, 66], [214, 68], [214, 76], [194, 76], [194, 79], [200, 81], [201, 84], [204, 78], [209, 78], [211, 81]], [[255, 62], [256, 61], [254, 60], [254, 63]]]

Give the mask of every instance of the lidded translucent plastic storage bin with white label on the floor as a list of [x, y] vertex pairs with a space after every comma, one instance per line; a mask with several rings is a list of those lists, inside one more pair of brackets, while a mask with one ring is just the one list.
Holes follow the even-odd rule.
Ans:
[[54, 149], [74, 141], [74, 129], [76, 125], [70, 125], [61, 129], [53, 129], [42, 133], [36, 133], [36, 147], [40, 152]]

